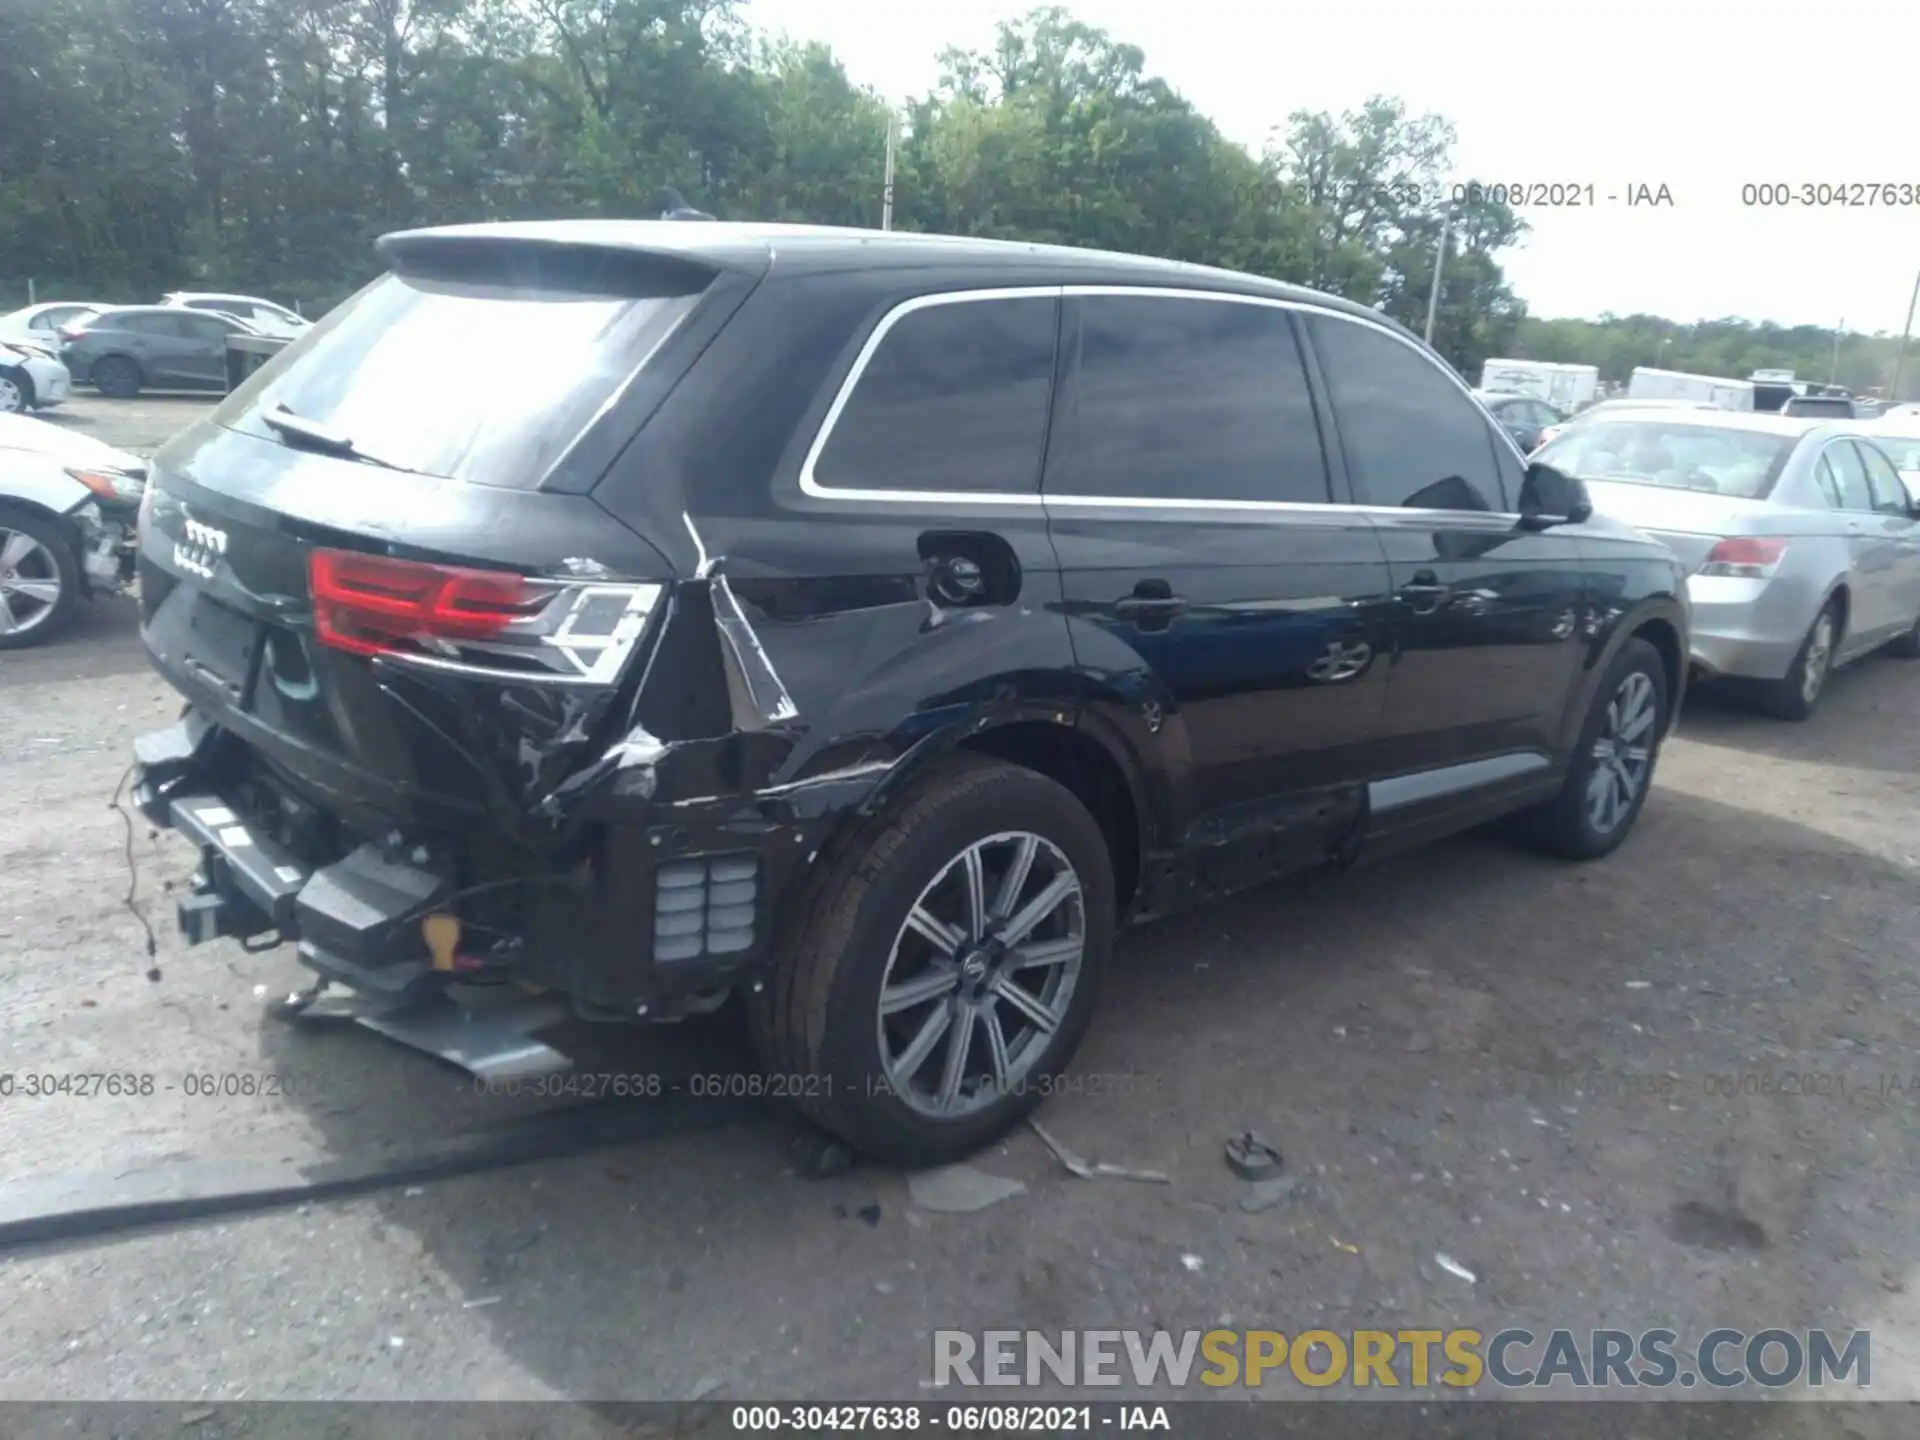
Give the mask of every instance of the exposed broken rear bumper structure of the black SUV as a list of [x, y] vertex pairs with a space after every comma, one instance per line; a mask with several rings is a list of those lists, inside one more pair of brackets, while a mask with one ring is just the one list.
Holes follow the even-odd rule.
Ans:
[[[177, 920], [190, 945], [294, 943], [303, 966], [386, 1010], [463, 981], [518, 981], [595, 1020], [670, 1020], [768, 960], [772, 900], [810, 847], [764, 814], [664, 806], [605, 826], [570, 864], [472, 874], [457, 837], [290, 841], [244, 780], [246, 747], [198, 712], [134, 743], [134, 804], [200, 851]], [[501, 910], [476, 908], [513, 895]], [[511, 933], [501, 933], [511, 914]], [[449, 925], [449, 920], [453, 922]]]

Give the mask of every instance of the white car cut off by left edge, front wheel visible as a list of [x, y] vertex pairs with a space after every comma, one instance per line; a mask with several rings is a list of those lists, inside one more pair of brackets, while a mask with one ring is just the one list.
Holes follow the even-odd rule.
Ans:
[[131, 586], [144, 492], [136, 455], [0, 415], [0, 651], [48, 641], [83, 597]]

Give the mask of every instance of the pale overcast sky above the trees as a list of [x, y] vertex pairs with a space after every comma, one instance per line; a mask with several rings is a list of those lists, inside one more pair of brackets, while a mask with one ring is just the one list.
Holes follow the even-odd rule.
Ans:
[[[947, 44], [985, 46], [1029, 4], [751, 0], [760, 27], [833, 46], [893, 100]], [[1828, 13], [1766, 0], [1430, 6], [1419, 0], [1075, 0], [1254, 150], [1294, 109], [1394, 94], [1459, 132], [1455, 179], [1592, 182], [1596, 209], [1530, 209], [1505, 255], [1536, 315], [1743, 315], [1899, 334], [1920, 205], [1753, 209], [1749, 182], [1920, 188], [1920, 4]], [[1632, 184], [1672, 207], [1626, 207]], [[1620, 196], [1609, 204], [1607, 194]]]

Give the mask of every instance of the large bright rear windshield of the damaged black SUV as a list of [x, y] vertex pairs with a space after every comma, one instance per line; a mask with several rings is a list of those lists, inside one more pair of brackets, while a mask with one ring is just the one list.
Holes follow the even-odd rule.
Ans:
[[374, 461], [536, 490], [699, 298], [490, 275], [386, 275], [263, 365], [215, 424], [276, 440], [263, 411]]

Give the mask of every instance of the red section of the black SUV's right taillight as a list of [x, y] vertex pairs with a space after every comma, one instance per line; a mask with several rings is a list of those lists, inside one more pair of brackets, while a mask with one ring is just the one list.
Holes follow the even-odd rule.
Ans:
[[313, 551], [307, 580], [319, 641], [349, 655], [388, 655], [436, 639], [497, 639], [549, 597], [545, 588], [505, 570], [340, 549]]

